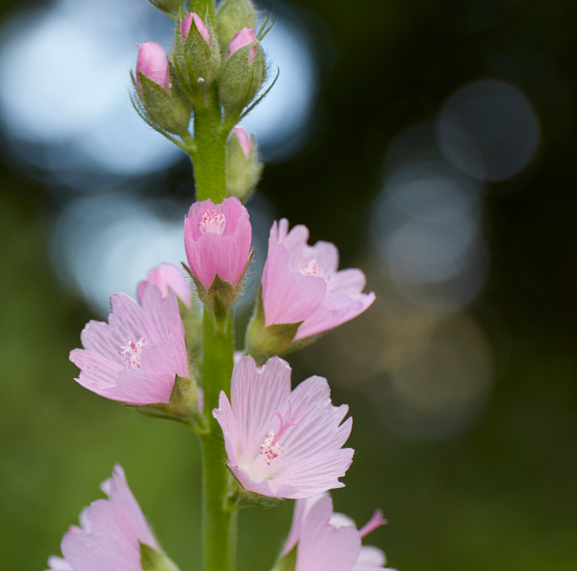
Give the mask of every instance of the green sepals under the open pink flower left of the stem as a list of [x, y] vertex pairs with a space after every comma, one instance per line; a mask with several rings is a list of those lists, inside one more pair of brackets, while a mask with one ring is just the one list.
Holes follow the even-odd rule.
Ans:
[[[192, 376], [192, 375], [191, 375]], [[153, 418], [178, 420], [191, 426], [194, 430], [204, 433], [207, 430], [207, 420], [200, 410], [198, 384], [194, 378], [174, 375], [173, 392], [167, 403], [154, 403], [144, 406], [127, 405]]]

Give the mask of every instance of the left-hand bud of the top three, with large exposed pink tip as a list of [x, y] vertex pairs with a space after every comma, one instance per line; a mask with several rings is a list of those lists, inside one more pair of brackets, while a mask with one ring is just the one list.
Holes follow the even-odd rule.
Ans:
[[171, 73], [164, 48], [155, 42], [139, 47], [134, 81], [140, 101], [152, 122], [182, 134], [190, 123], [190, 103]]

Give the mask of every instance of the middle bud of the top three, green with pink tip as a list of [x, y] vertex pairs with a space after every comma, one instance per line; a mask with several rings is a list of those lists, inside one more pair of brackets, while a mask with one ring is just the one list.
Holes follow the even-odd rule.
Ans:
[[193, 93], [204, 93], [220, 68], [220, 47], [212, 29], [191, 12], [174, 35], [174, 65]]

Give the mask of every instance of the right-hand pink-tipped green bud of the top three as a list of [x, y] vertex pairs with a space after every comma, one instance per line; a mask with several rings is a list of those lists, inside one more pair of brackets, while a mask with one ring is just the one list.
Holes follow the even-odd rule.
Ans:
[[248, 105], [263, 85], [264, 52], [254, 30], [242, 28], [228, 46], [227, 62], [219, 78], [220, 103], [229, 117]]

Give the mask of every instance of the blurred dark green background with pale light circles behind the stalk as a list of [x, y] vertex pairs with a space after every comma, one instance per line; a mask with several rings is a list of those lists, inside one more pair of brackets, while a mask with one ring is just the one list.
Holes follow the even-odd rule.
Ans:
[[[574, 571], [575, 2], [261, 6], [281, 74], [246, 124], [268, 161], [258, 261], [286, 216], [377, 293], [289, 359], [350, 404], [336, 509], [362, 525], [383, 508], [366, 543], [402, 571]], [[81, 388], [68, 361], [108, 295], [183, 258], [189, 164], [126, 87], [134, 44], [168, 46], [171, 22], [144, 0], [0, 9], [2, 566], [44, 569], [119, 462], [192, 571], [196, 440]], [[269, 569], [291, 510], [241, 514], [239, 571]]]

